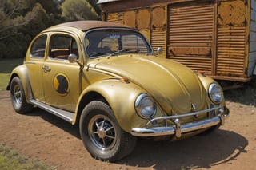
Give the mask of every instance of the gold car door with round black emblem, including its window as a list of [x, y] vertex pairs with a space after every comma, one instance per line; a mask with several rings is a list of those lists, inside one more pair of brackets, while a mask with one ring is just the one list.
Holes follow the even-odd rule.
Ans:
[[70, 63], [70, 53], [78, 57], [78, 42], [72, 35], [53, 34], [50, 37], [49, 57], [43, 65], [43, 86], [47, 105], [74, 112], [79, 97], [79, 70]]

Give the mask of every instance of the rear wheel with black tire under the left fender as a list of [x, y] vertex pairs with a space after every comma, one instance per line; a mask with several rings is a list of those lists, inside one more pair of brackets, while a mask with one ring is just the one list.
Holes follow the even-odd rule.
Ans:
[[26, 96], [22, 82], [18, 77], [14, 77], [10, 82], [10, 98], [17, 113], [28, 113], [33, 109], [33, 105], [26, 102]]

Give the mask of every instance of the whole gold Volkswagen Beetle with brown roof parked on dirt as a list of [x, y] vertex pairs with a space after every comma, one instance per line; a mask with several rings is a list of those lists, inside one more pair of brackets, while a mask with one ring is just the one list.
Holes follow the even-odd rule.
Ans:
[[37, 106], [78, 123], [83, 144], [99, 160], [129, 155], [138, 137], [209, 132], [229, 115], [218, 83], [156, 57], [142, 34], [114, 22], [66, 22], [42, 31], [7, 89], [17, 113]]

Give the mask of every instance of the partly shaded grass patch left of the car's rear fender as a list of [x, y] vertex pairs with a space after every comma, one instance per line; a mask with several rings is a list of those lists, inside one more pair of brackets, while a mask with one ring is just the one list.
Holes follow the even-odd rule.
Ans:
[[0, 90], [5, 90], [10, 73], [17, 65], [22, 65], [23, 59], [0, 59]]

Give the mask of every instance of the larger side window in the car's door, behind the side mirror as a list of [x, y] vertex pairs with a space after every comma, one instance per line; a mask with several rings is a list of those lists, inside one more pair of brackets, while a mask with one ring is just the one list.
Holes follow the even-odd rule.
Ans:
[[78, 56], [78, 45], [74, 38], [61, 34], [50, 38], [50, 58], [67, 60], [70, 53]]

